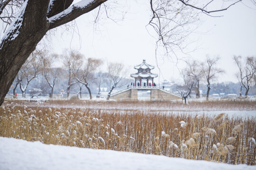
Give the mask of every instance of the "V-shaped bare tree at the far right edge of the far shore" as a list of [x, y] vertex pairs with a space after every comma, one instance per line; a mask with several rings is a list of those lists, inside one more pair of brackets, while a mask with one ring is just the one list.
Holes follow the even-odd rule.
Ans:
[[254, 76], [256, 75], [256, 57], [247, 57], [244, 66], [241, 58], [241, 56], [233, 57], [239, 69], [237, 78], [240, 83], [240, 97], [242, 96], [242, 87], [246, 89], [245, 96], [247, 97]]

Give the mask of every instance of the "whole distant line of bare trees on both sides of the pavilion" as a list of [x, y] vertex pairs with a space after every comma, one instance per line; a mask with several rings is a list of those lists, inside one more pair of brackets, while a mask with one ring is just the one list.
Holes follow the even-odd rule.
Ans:
[[[61, 59], [61, 60], [59, 60]], [[238, 83], [215, 83], [224, 70], [218, 67], [219, 57], [206, 56], [205, 61], [187, 60], [186, 67], [180, 70], [181, 82], [174, 82], [172, 91], [179, 93], [187, 102], [187, 98], [195, 95], [206, 100], [209, 95], [218, 93], [224, 97], [228, 93], [252, 95], [256, 93], [256, 57], [234, 56], [237, 65]], [[62, 66], [56, 68], [56, 62]], [[85, 58], [74, 51], [64, 51], [62, 54], [50, 54], [47, 51], [34, 51], [19, 70], [10, 90], [13, 97], [16, 92], [26, 97], [27, 91], [32, 95], [53, 97], [60, 94], [69, 98], [70, 93], [82, 98], [86, 93], [92, 99], [92, 94], [101, 96], [101, 89], [107, 91], [107, 99], [114, 89], [119, 89], [130, 82], [128, 70], [121, 63], [107, 63], [107, 72], [102, 71], [103, 60]], [[249, 90], [251, 93], [249, 93]], [[200, 93], [201, 92], [201, 93]]]

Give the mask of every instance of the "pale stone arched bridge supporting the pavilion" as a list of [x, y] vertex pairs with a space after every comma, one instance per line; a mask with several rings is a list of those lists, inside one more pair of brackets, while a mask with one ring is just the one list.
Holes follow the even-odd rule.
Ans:
[[110, 99], [116, 100], [138, 100], [138, 91], [151, 91], [150, 100], [174, 100], [181, 99], [177, 94], [171, 93], [157, 86], [132, 86], [110, 95]]

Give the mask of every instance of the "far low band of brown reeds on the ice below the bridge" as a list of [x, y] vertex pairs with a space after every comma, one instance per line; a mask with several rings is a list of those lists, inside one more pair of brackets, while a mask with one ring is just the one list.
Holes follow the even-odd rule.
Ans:
[[172, 111], [204, 111], [204, 110], [256, 110], [256, 100], [251, 99], [215, 99], [211, 101], [188, 101], [184, 105], [178, 101], [90, 101], [90, 100], [46, 100], [43, 102], [30, 100], [7, 100], [6, 103], [18, 103], [28, 107], [44, 105], [45, 107], [86, 107], [98, 109], [126, 110], [172, 110]]

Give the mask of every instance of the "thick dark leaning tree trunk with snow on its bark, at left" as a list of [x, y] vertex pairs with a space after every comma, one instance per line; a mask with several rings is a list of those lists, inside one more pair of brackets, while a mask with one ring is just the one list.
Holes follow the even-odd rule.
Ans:
[[0, 104], [19, 69], [47, 32], [48, 2], [28, 0], [20, 16], [13, 21], [15, 26], [9, 29], [0, 43]]

